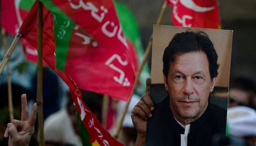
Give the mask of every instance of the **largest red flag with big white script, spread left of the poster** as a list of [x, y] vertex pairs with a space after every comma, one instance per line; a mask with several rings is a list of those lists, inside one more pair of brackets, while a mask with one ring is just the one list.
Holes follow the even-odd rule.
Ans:
[[[67, 51], [67, 58], [65, 58], [67, 62], [63, 67], [65, 72], [83, 90], [102, 93], [127, 101], [132, 91], [135, 76], [129, 59], [128, 45], [118, 22], [113, 1], [42, 0], [42, 3], [61, 18], [74, 20], [99, 44], [98, 47], [91, 49], [90, 53], [81, 55], [76, 49], [74, 50], [75, 47], [71, 47], [74, 45], [71, 43], [70, 49]], [[61, 34], [63, 33], [61, 32]], [[85, 49], [83, 50], [85, 51]], [[59, 53], [62, 54], [63, 51], [56, 50], [56, 56]], [[63, 64], [63, 61], [59, 64], [57, 57], [56, 62], [57, 68], [62, 68], [59, 65]]]

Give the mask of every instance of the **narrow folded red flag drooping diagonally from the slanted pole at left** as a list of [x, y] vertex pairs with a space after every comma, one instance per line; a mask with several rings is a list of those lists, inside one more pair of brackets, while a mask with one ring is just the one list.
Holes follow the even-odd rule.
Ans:
[[[89, 108], [83, 103], [82, 95], [74, 80], [68, 74], [55, 68], [56, 57], [54, 52], [56, 40], [54, 39], [53, 17], [52, 13], [45, 7], [43, 8], [43, 21], [43, 59], [68, 85], [81, 120], [89, 132], [90, 142], [94, 144], [98, 143], [101, 146], [121, 146], [121, 143], [111, 137], [94, 117]], [[29, 15], [24, 20], [19, 33], [22, 34], [22, 37], [29, 41], [32, 46], [37, 48], [37, 2], [33, 5]]]

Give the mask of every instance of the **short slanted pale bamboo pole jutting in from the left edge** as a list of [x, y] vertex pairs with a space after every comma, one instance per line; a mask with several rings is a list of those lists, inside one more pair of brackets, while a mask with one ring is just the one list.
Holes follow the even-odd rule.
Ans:
[[5, 53], [4, 58], [3, 58], [3, 60], [1, 61], [1, 64], [0, 64], [0, 74], [3, 72], [5, 65], [9, 61], [9, 59], [10, 59], [10, 57], [11, 57], [11, 55], [12, 55], [12, 53], [13, 53], [15, 47], [16, 47], [16, 45], [19, 42], [20, 37], [21, 37], [21, 34], [17, 34], [15, 36], [14, 40], [12, 41], [12, 44], [11, 44], [9, 50], [7, 51], [7, 53]]

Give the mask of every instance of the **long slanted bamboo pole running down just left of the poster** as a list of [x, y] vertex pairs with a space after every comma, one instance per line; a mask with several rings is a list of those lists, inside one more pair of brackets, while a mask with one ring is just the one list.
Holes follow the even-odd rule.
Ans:
[[[157, 19], [157, 24], [158, 24], [158, 25], [161, 24], [161, 22], [162, 22], [162, 18], [163, 18], [163, 14], [165, 13], [166, 5], [167, 5], [167, 3], [166, 3], [166, 1], [165, 1], [165, 2], [163, 3], [161, 12], [160, 12], [159, 17], [158, 17], [158, 19]], [[151, 35], [150, 40], [149, 40], [149, 42], [148, 42], [148, 45], [147, 45], [147, 48], [146, 48], [146, 51], [145, 51], [145, 54], [144, 54], [144, 57], [143, 57], [142, 64], [140, 65], [140, 68], [139, 68], [139, 70], [138, 70], [138, 72], [137, 72], [137, 74], [136, 74], [135, 82], [134, 82], [134, 85], [133, 85], [133, 88], [132, 88], [131, 95], [130, 95], [130, 97], [129, 97], [129, 99], [128, 99], [126, 105], [125, 105], [125, 108], [124, 108], [124, 111], [123, 111], [123, 113], [122, 113], [120, 122], [119, 122], [118, 125], [117, 125], [116, 134], [114, 135], [114, 138], [116, 138], [116, 139], [118, 138], [118, 136], [119, 136], [119, 134], [120, 134], [120, 131], [121, 131], [121, 129], [122, 129], [123, 121], [124, 121], [124, 116], [125, 116], [125, 114], [126, 114], [126, 112], [127, 112], [128, 106], [129, 106], [129, 104], [130, 104], [130, 102], [131, 102], [131, 97], [132, 97], [132, 95], [133, 95], [133, 92], [134, 92], [134, 90], [135, 90], [135, 87], [136, 87], [136, 85], [138, 84], [139, 77], [140, 77], [140, 73], [142, 72], [143, 66], [144, 66], [145, 63], [147, 62], [148, 54], [150, 53], [151, 47], [152, 47], [152, 41], [153, 41], [153, 34]]]

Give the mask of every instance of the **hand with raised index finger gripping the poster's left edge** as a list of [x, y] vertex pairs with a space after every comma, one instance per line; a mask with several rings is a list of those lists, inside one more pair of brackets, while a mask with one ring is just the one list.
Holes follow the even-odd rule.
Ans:
[[154, 104], [151, 100], [150, 94], [151, 79], [146, 80], [146, 93], [142, 95], [140, 101], [132, 109], [132, 123], [137, 130], [138, 137], [136, 140], [136, 146], [145, 145], [146, 130], [147, 130], [147, 118], [151, 118], [151, 111], [154, 110]]

